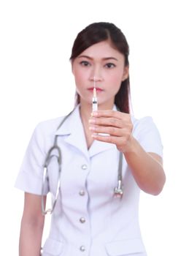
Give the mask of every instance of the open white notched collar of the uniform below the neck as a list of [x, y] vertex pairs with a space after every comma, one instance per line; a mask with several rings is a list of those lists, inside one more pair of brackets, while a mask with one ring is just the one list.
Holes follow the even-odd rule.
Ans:
[[[116, 110], [116, 107], [113, 109]], [[69, 145], [72, 145], [75, 148], [78, 148], [88, 158], [93, 157], [102, 151], [116, 148], [114, 144], [103, 143], [101, 141], [95, 140], [88, 150], [85, 140], [85, 132], [80, 118], [80, 105], [77, 105], [77, 107], [74, 108], [72, 113], [70, 113], [70, 115], [65, 119], [61, 127], [57, 129], [55, 135], [64, 136], [64, 142], [69, 143]]]

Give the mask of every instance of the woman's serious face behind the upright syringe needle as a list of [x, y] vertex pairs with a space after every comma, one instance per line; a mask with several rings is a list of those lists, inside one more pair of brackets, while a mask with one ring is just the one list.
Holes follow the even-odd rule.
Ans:
[[81, 104], [91, 105], [95, 80], [99, 107], [112, 108], [121, 82], [128, 78], [124, 63], [123, 54], [112, 48], [109, 41], [96, 43], [77, 56], [72, 61], [72, 72]]

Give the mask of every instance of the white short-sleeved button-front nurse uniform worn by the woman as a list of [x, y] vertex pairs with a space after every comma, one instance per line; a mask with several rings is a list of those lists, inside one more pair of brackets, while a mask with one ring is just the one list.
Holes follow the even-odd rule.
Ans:
[[[95, 140], [88, 150], [79, 106], [57, 130], [61, 118], [40, 123], [28, 145], [16, 187], [42, 192], [42, 171], [55, 135], [63, 165], [61, 192], [52, 215], [43, 256], [146, 256], [139, 230], [140, 189], [123, 158], [123, 197], [114, 197], [119, 152], [115, 145]], [[162, 157], [161, 138], [153, 119], [132, 118], [133, 135], [145, 151]], [[46, 192], [55, 193], [57, 161], [49, 167]]]

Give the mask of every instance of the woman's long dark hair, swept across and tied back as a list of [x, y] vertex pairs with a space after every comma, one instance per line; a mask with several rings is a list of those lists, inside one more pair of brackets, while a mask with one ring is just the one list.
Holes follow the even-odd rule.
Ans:
[[[92, 23], [77, 34], [72, 48], [70, 60], [73, 61], [85, 49], [97, 42], [110, 39], [114, 48], [116, 48], [125, 57], [125, 65], [128, 66], [129, 47], [123, 32], [113, 23], [99, 22]], [[120, 90], [115, 95], [115, 105], [121, 112], [130, 113], [130, 82], [129, 76], [121, 83]], [[79, 94], [76, 93], [76, 104], [80, 103]]]

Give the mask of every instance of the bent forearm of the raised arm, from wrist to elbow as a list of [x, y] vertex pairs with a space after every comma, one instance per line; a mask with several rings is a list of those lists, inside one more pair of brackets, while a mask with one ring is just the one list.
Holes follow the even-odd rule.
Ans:
[[134, 137], [129, 143], [129, 150], [124, 155], [136, 183], [144, 192], [158, 195], [166, 180], [161, 162], [145, 152]]

